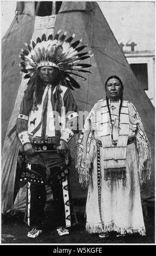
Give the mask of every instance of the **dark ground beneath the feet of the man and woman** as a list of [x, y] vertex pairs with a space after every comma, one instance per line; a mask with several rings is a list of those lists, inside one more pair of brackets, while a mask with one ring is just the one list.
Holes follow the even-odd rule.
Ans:
[[[53, 215], [53, 214], [52, 214]], [[27, 237], [27, 232], [30, 228], [23, 223], [23, 216], [5, 216], [2, 218], [2, 243], [154, 243], [154, 210], [148, 209], [148, 215], [144, 216], [146, 226], [146, 236], [138, 234], [126, 235], [125, 237], [117, 237], [112, 234], [111, 237], [100, 239], [97, 234], [87, 234], [85, 231], [85, 218], [83, 214], [76, 212], [77, 224], [70, 235], [59, 236], [56, 232], [56, 227], [51, 220], [51, 212], [47, 212], [47, 226], [44, 232], [36, 239]]]

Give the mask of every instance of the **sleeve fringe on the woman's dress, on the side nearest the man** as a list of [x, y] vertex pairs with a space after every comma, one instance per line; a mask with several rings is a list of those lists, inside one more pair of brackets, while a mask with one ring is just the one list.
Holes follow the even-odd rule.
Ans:
[[76, 169], [79, 173], [79, 183], [82, 187], [87, 187], [90, 182], [90, 168], [92, 165], [92, 162], [94, 161], [96, 157], [97, 149], [95, 141], [91, 143], [90, 145], [90, 151], [88, 153], [82, 151], [81, 148], [77, 148], [77, 164]]

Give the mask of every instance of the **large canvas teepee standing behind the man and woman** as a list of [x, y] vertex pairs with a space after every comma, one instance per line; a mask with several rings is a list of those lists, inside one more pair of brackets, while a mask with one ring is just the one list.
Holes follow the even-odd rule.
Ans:
[[[96, 2], [53, 2], [52, 10], [55, 9], [55, 13], [57, 10], [57, 15], [53, 15], [53, 11], [51, 15], [45, 11], [45, 16], [40, 16], [40, 5], [44, 2], [37, 2], [37, 5], [35, 2], [17, 3], [19, 14], [15, 16], [2, 40], [2, 212], [17, 209], [17, 201], [18, 210], [23, 209], [23, 204], [19, 204], [17, 198], [13, 206], [17, 164], [15, 160], [20, 144], [16, 137], [16, 118], [28, 82], [19, 74], [18, 55], [24, 42], [29, 43], [30, 39], [35, 40], [43, 33], [56, 33], [59, 29], [69, 35], [75, 33], [75, 40], [82, 38], [83, 43], [94, 53], [94, 57], [89, 59], [89, 63], [93, 65], [90, 69], [92, 74], [86, 75], [86, 81], [80, 78], [81, 88], [73, 93], [79, 111], [90, 111], [95, 102], [105, 97], [104, 84], [109, 76], [117, 75], [124, 83], [124, 98], [134, 103], [138, 109], [152, 148], [152, 175], [151, 180], [141, 187], [142, 203], [154, 202], [154, 107], [135, 78], [99, 5]], [[52, 5], [52, 2], [45, 3]], [[74, 139], [70, 148], [74, 158]], [[9, 162], [8, 155], [11, 157]], [[73, 162], [70, 170], [72, 196], [77, 200], [85, 199], [87, 191], [80, 187], [74, 166]]]

